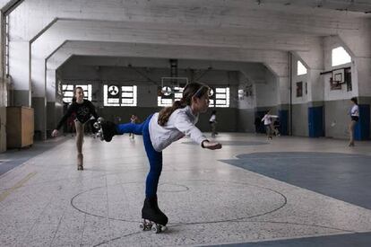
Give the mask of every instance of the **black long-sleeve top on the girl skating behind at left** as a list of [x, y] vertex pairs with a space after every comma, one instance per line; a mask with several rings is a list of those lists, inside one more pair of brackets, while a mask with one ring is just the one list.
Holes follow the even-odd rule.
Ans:
[[63, 116], [59, 121], [56, 129], [61, 128], [65, 123], [65, 120], [68, 119], [73, 112], [76, 114], [76, 119], [78, 119], [81, 123], [86, 123], [89, 119], [91, 119], [91, 116], [93, 116], [95, 119], [99, 118], [91, 101], [83, 100], [82, 103], [73, 101], [73, 103], [68, 107], [65, 116]]

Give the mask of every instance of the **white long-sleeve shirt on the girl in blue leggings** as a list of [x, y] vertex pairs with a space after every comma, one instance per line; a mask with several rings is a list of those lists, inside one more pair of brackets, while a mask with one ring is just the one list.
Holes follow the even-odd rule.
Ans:
[[153, 114], [149, 127], [151, 143], [157, 152], [161, 152], [171, 143], [185, 136], [191, 137], [199, 145], [207, 140], [200, 129], [194, 126], [198, 121], [198, 115], [194, 115], [189, 106], [174, 110], [165, 126], [160, 126], [158, 119], [157, 112]]

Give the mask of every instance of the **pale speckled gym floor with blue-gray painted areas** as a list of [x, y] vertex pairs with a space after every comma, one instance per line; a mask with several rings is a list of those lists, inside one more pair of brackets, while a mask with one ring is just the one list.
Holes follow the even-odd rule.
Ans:
[[[357, 190], [368, 197], [363, 204], [341, 197], [371, 177], [370, 142], [350, 148], [345, 140], [304, 137], [220, 133], [217, 139], [226, 144], [221, 150], [184, 139], [163, 152], [158, 195], [168, 231], [152, 234], [139, 229], [148, 171], [141, 137], [111, 143], [86, 137], [82, 172], [74, 139], [66, 137], [0, 176], [0, 245], [318, 246], [352, 236], [351, 243], [364, 246], [371, 240], [370, 194]], [[325, 162], [315, 162], [319, 155]], [[333, 190], [341, 174], [351, 174], [349, 186], [339, 185], [344, 193]]]

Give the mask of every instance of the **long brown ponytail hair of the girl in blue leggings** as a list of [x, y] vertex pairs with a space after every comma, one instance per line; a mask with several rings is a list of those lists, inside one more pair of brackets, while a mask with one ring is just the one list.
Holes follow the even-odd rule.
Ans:
[[180, 99], [180, 101], [174, 101], [172, 106], [160, 110], [158, 120], [159, 125], [164, 126], [168, 122], [168, 119], [174, 110], [185, 108], [187, 105], [191, 105], [193, 97], [201, 98], [205, 93], [209, 93], [209, 90], [210, 89], [207, 85], [198, 83], [187, 84], [183, 91], [183, 97]]

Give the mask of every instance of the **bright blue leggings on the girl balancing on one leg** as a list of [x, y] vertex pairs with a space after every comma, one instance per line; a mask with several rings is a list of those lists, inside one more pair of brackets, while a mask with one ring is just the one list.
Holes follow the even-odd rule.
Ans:
[[159, 185], [160, 174], [162, 171], [162, 152], [157, 152], [154, 150], [151, 143], [149, 131], [151, 118], [152, 115], [141, 124], [119, 124], [116, 128], [119, 134], [134, 133], [135, 135], [143, 136], [145, 152], [147, 153], [148, 160], [150, 161], [150, 172], [148, 173], [145, 181], [146, 198], [156, 197], [157, 187]]

